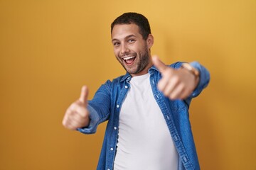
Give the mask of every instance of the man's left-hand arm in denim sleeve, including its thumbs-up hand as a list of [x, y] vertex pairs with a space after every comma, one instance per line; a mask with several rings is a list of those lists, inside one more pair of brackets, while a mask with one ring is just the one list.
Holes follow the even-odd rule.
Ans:
[[110, 114], [110, 81], [97, 90], [92, 101], [87, 101], [88, 89], [82, 87], [78, 101], [75, 101], [65, 112], [63, 125], [70, 130], [91, 134], [97, 125], [107, 120]]

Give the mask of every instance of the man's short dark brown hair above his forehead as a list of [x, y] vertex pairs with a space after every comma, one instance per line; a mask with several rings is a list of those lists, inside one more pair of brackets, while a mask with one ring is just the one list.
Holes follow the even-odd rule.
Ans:
[[151, 34], [149, 21], [145, 16], [140, 13], [123, 13], [121, 16], [117, 17], [111, 24], [111, 34], [115, 25], [117, 24], [131, 24], [134, 23], [139, 26], [139, 33], [142, 35], [142, 38], [146, 40], [149, 34]]

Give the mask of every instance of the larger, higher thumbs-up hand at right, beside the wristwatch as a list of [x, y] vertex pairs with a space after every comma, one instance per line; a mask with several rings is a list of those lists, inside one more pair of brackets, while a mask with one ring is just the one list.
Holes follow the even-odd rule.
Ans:
[[187, 98], [198, 84], [198, 79], [187, 69], [172, 69], [166, 66], [159, 57], [152, 57], [154, 66], [161, 72], [162, 79], [157, 84], [164, 96], [174, 99]]

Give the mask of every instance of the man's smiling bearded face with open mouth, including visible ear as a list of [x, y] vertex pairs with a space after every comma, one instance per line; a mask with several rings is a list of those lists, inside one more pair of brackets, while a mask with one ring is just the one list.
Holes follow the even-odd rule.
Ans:
[[136, 24], [118, 24], [112, 30], [114, 55], [124, 69], [133, 77], [146, 74], [151, 67], [149, 49], [153, 45], [152, 35], [147, 40], [142, 38]]

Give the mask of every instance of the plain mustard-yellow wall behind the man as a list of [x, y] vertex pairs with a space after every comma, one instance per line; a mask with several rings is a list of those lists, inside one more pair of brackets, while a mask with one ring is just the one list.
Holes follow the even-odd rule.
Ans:
[[95, 169], [96, 135], [61, 125], [87, 84], [90, 98], [124, 74], [110, 23], [143, 13], [166, 63], [198, 60], [210, 86], [191, 105], [201, 169], [256, 169], [256, 1], [0, 0], [0, 169]]

